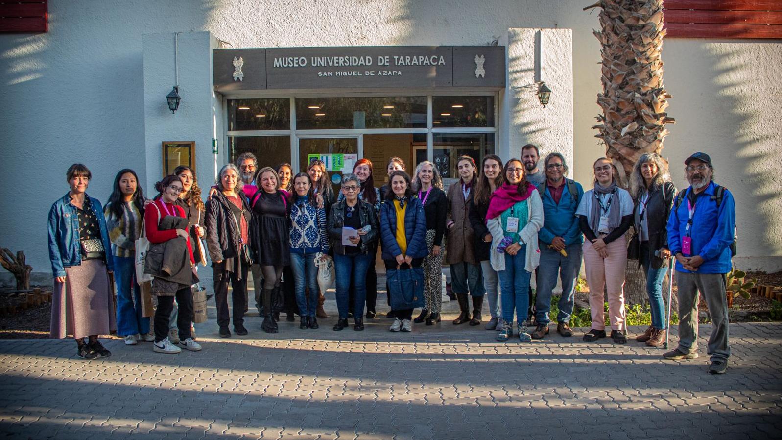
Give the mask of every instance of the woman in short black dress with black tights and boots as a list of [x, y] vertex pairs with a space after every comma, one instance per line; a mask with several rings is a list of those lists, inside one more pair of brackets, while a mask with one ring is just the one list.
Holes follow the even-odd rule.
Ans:
[[280, 189], [277, 171], [261, 168], [255, 181], [260, 189], [250, 200], [253, 210], [251, 247], [253, 261], [260, 265], [264, 274], [264, 323], [260, 328], [267, 333], [277, 333], [273, 312], [282, 308], [282, 268], [290, 265], [290, 244], [288, 236], [288, 193]]

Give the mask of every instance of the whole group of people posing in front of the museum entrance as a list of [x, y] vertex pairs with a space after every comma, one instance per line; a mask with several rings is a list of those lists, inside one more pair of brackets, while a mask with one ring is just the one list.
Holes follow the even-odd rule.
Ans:
[[[380, 247], [386, 269], [421, 268], [425, 275], [420, 314], [413, 318], [413, 309], [392, 307], [387, 315], [394, 319], [391, 331], [440, 322], [444, 257], [460, 308], [454, 324], [481, 324], [486, 296], [490, 317], [485, 328], [495, 330], [498, 341], [514, 334], [522, 342], [543, 338], [550, 331], [551, 298], [559, 278], [557, 332], [570, 337], [583, 260], [592, 316], [583, 340], [607, 337], [605, 292], [610, 337], [624, 344], [622, 288], [632, 258], [644, 269], [651, 305], [651, 326], [636, 339], [659, 347], [667, 331], [662, 280], [674, 256], [680, 342], [664, 356], [697, 357], [700, 290], [715, 326], [708, 344], [710, 372], [723, 373], [730, 355], [725, 274], [731, 269], [735, 207], [730, 192], [713, 182], [710, 157], [695, 153], [687, 158], [690, 186], [679, 193], [667, 163], [656, 153], [639, 157], [629, 187], [622, 184], [615, 163], [601, 157], [594, 162], [593, 188], [585, 193], [568, 179], [561, 153], [550, 153], [542, 162], [535, 145], [523, 146], [521, 153], [521, 159], [507, 162], [489, 154], [480, 166], [471, 156], [458, 157], [460, 179], [447, 192], [428, 160], [411, 176], [404, 160], [392, 157], [388, 181], [378, 188], [373, 164], [361, 159], [352, 173], [342, 176], [339, 193], [332, 190], [320, 160], [308, 164], [307, 172], [292, 175], [289, 164], [259, 169], [256, 157], [243, 153], [236, 164], [221, 168], [206, 203], [193, 170], [182, 166], [157, 182], [154, 200], [145, 199], [134, 171], [121, 170], [105, 208], [86, 194], [90, 171], [74, 164], [66, 173], [70, 191], [52, 205], [48, 218], [56, 278], [52, 336], [72, 335], [85, 359], [110, 355], [97, 335], [113, 330], [126, 344], [153, 341], [156, 352], [200, 350], [192, 331], [192, 287], [199, 282], [197, 265], [206, 262], [206, 254], [221, 337], [231, 336], [229, 323], [235, 334], [248, 333], [243, 316], [249, 273], [264, 317], [262, 330], [278, 332], [280, 312], [290, 321], [298, 313], [302, 330], [317, 329], [317, 318], [326, 317], [318, 267], [330, 264], [329, 259], [339, 310], [333, 330], [347, 328], [353, 318], [353, 330], [361, 331], [364, 316], [377, 316], [374, 262]], [[149, 334], [149, 318], [142, 316], [135, 280], [134, 243], [142, 234], [152, 243], [146, 258], [153, 262], [146, 266], [157, 297], [154, 334]], [[117, 285], [116, 315], [109, 274]], [[391, 294], [389, 290], [389, 305], [404, 302]], [[528, 329], [531, 310], [535, 326]]]

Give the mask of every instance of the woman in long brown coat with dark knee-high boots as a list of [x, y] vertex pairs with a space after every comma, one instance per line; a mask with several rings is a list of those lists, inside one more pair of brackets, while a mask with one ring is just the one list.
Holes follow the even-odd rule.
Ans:
[[[475, 160], [469, 156], [460, 156], [457, 170], [461, 179], [448, 188], [448, 215], [446, 240], [446, 262], [450, 265], [450, 283], [459, 301], [461, 313], [454, 324], [469, 322], [471, 326], [481, 323], [481, 308], [483, 306], [483, 277], [480, 261], [475, 258], [473, 246], [473, 230], [470, 225], [469, 202], [472, 200], [472, 189], [475, 188], [478, 167]], [[467, 298], [472, 296], [472, 319]]]

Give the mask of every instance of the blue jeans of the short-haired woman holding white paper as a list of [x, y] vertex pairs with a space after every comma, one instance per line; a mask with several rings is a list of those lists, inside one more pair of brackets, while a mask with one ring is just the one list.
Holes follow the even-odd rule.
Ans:
[[364, 303], [367, 300], [367, 270], [374, 260], [374, 255], [334, 254], [334, 270], [337, 277], [337, 308], [339, 319], [347, 319], [347, 306], [350, 301], [350, 281], [353, 281], [353, 316], [364, 316]]

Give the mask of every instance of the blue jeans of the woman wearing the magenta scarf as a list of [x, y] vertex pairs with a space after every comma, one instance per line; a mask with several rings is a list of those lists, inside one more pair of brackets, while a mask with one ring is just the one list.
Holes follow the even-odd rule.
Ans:
[[525, 325], [529, 308], [529, 279], [532, 273], [524, 269], [526, 249], [525, 244], [515, 255], [504, 254], [505, 270], [497, 272], [502, 288], [502, 320], [513, 323], [515, 311], [518, 326]]

